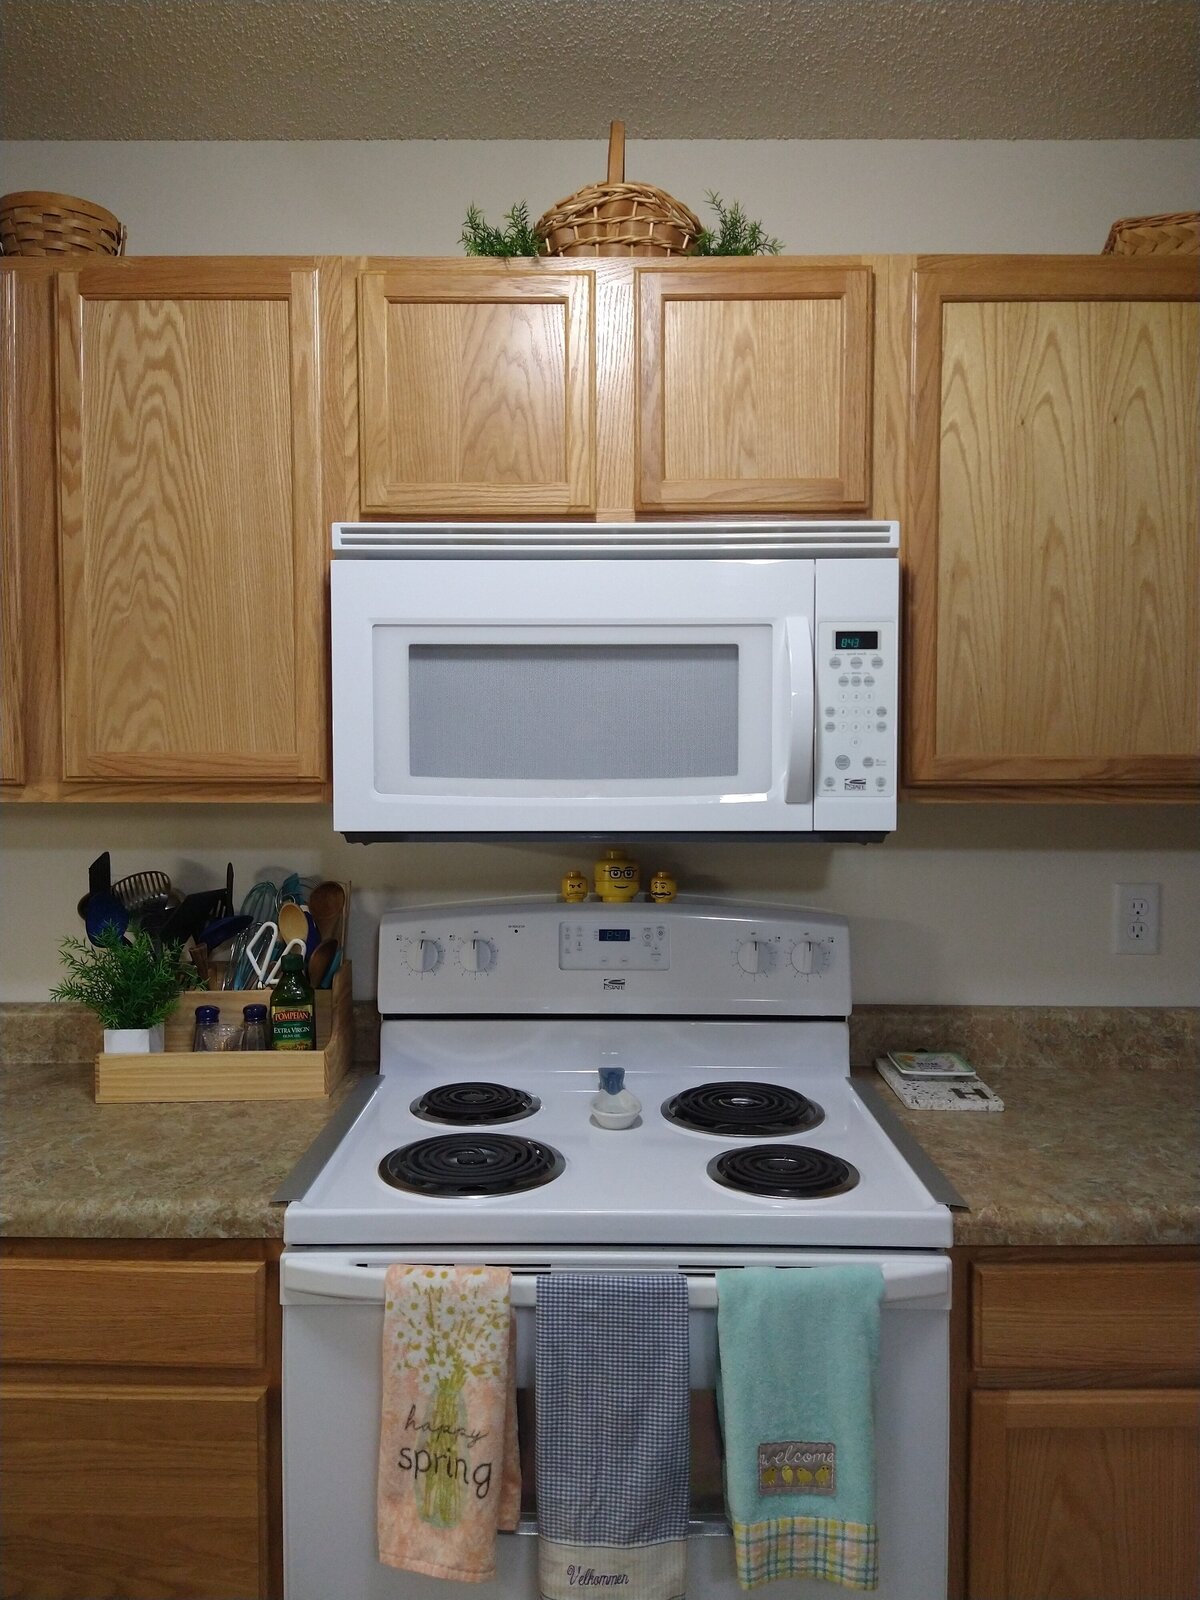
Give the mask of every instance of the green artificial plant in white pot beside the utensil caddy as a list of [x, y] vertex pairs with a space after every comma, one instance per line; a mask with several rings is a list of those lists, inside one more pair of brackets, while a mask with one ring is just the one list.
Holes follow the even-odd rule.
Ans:
[[59, 957], [67, 976], [50, 998], [75, 1000], [94, 1011], [107, 1054], [162, 1050], [163, 1024], [181, 992], [203, 987], [195, 968], [184, 963], [181, 944], [158, 946], [142, 928], [130, 928], [126, 938], [107, 926], [94, 944], [64, 939]]

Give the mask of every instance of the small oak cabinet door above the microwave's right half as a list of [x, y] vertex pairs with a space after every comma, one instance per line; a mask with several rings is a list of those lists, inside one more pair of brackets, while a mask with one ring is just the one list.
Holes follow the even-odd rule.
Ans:
[[869, 267], [637, 270], [638, 506], [867, 509]]

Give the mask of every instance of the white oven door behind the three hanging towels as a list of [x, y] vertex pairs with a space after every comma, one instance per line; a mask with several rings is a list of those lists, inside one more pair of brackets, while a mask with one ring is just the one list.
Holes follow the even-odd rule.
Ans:
[[[522, 1526], [498, 1538], [491, 1584], [448, 1584], [382, 1566], [376, 1555], [382, 1286], [392, 1261], [445, 1261], [446, 1251], [285, 1251], [283, 1526], [288, 1600], [502, 1600], [538, 1595], [533, 1474], [533, 1307], [541, 1272], [662, 1272], [688, 1277], [691, 1306], [691, 1494], [688, 1592], [698, 1600], [739, 1595], [722, 1509], [715, 1419], [717, 1293], [723, 1266], [835, 1266], [883, 1270], [875, 1410], [878, 1600], [946, 1594], [949, 1469], [950, 1266], [944, 1256], [872, 1251], [453, 1251], [461, 1264], [510, 1266], [517, 1310], [517, 1384], [525, 1493]], [[792, 1582], [797, 1600], [826, 1600], [824, 1582]]]

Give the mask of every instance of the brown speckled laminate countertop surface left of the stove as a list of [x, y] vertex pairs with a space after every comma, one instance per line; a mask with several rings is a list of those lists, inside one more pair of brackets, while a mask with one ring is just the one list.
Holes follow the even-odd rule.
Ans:
[[0, 1234], [277, 1238], [270, 1197], [341, 1102], [98, 1106], [78, 1062], [0, 1067]]

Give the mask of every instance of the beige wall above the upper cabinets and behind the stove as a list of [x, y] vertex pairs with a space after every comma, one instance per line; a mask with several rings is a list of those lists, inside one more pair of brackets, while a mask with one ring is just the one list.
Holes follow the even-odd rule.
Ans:
[[[659, 142], [629, 173], [701, 205], [741, 198], [797, 253], [1094, 251], [1118, 216], [1197, 205], [1200, 144]], [[8, 144], [3, 189], [117, 211], [136, 253], [448, 253], [470, 200], [534, 216], [602, 176], [600, 146]], [[325, 808], [10, 806], [0, 816], [0, 1000], [43, 998], [78, 931], [88, 861], [165, 867], [186, 890], [234, 861], [355, 883], [357, 989], [387, 904], [552, 890], [592, 846], [349, 846]], [[1200, 1003], [1197, 813], [1117, 806], [901, 808], [885, 845], [669, 850], [696, 891], [824, 906], [853, 922], [859, 1002]], [[1163, 885], [1157, 957], [1109, 954], [1112, 885]]]

